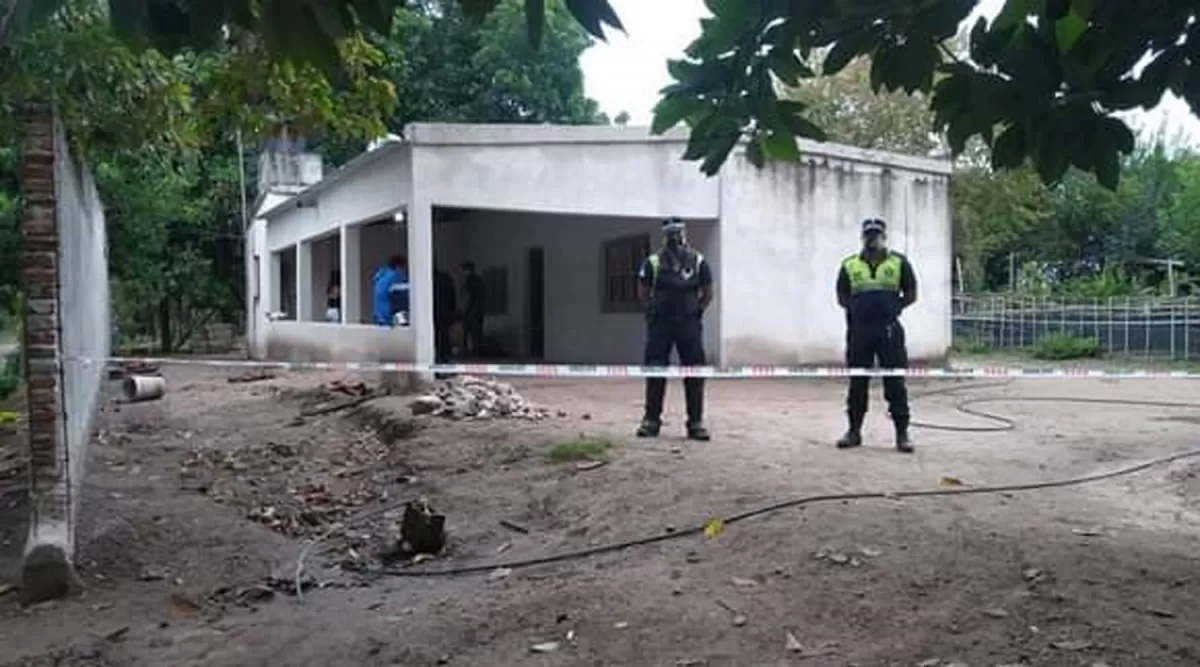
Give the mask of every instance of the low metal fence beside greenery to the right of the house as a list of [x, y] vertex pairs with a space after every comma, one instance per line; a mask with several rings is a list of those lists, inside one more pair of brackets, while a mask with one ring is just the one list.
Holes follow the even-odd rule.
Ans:
[[960, 348], [1027, 348], [1070, 335], [1112, 356], [1200, 359], [1200, 298], [960, 295], [953, 317]]

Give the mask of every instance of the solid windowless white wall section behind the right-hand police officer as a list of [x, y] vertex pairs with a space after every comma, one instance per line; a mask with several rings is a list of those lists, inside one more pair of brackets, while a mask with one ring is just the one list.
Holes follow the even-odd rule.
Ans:
[[738, 155], [722, 169], [719, 294], [726, 363], [844, 361], [835, 280], [841, 260], [860, 247], [865, 217], [888, 222], [890, 246], [917, 271], [919, 301], [902, 318], [910, 356], [941, 357], [949, 349], [948, 167], [845, 152], [762, 172]]

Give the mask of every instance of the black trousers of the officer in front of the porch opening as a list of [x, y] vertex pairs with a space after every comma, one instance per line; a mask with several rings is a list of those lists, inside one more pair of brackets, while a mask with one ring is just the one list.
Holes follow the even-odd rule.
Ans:
[[[650, 317], [646, 328], [646, 366], [667, 366], [671, 350], [679, 353], [683, 366], [703, 366], [704, 332], [701, 317]], [[646, 379], [646, 421], [662, 420], [662, 399], [666, 396], [666, 378]], [[684, 378], [684, 399], [688, 404], [688, 422], [700, 423], [704, 419], [704, 379]]]

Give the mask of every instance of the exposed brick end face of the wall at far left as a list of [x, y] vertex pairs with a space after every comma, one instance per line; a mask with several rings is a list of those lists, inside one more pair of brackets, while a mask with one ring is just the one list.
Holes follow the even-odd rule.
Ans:
[[62, 415], [55, 121], [48, 106], [22, 114], [22, 281], [29, 410], [30, 534], [22, 566], [28, 601], [60, 597], [76, 582], [72, 503]]

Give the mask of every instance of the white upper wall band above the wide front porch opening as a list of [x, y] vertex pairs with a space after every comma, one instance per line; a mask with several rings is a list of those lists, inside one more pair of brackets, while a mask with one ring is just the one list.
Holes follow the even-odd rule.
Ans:
[[[413, 125], [420, 196], [434, 205], [713, 220], [716, 179], [679, 155], [684, 136], [605, 126]], [[614, 193], [617, 196], [614, 196]]]

